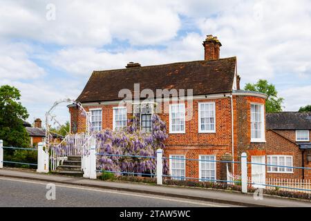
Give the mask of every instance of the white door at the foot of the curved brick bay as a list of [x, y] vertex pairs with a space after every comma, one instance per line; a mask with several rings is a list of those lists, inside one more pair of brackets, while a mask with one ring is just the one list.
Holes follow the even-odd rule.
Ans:
[[[265, 164], [265, 156], [252, 156], [252, 163]], [[252, 182], [256, 183], [254, 188], [262, 188], [265, 186], [265, 165], [252, 164]]]

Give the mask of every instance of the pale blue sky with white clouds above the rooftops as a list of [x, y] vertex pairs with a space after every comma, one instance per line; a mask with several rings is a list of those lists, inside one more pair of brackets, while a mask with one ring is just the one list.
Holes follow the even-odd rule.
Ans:
[[[0, 86], [21, 90], [30, 123], [76, 99], [93, 70], [202, 60], [209, 34], [237, 57], [241, 87], [267, 79], [284, 111], [311, 104], [310, 0], [0, 3]], [[66, 122], [66, 104], [53, 115]]]

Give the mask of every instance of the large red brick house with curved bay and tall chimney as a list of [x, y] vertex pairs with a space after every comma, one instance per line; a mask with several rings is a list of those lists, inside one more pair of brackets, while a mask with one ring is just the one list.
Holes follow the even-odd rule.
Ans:
[[[154, 66], [131, 62], [123, 69], [93, 71], [76, 101], [91, 111], [96, 131], [125, 126], [133, 113], [140, 113], [141, 128], [148, 131], [151, 114], [157, 113], [167, 124], [169, 138], [164, 155], [173, 158], [169, 162], [171, 175], [226, 179], [223, 163], [186, 164], [184, 159], [241, 160], [241, 153], [247, 152], [249, 160], [251, 156], [261, 160], [265, 155], [267, 97], [240, 90], [236, 57], [220, 59], [220, 46], [217, 37], [207, 35], [203, 41], [204, 60]], [[158, 95], [158, 89], [171, 93], [161, 95], [158, 102], [150, 96]], [[187, 94], [173, 93], [182, 89]], [[124, 99], [120, 91], [130, 93], [131, 99]], [[133, 101], [132, 97], [138, 99]], [[84, 132], [86, 118], [74, 104], [68, 108], [71, 133]], [[233, 170], [240, 171], [238, 164]]]

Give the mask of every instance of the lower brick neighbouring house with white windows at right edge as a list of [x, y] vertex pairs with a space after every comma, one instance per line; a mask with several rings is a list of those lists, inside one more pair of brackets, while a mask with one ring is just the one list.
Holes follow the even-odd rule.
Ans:
[[[267, 164], [311, 167], [311, 112], [267, 113]], [[311, 179], [308, 169], [267, 166], [268, 177]]]

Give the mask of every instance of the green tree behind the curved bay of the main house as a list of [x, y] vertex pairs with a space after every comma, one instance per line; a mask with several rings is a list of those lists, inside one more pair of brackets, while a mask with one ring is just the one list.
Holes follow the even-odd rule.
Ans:
[[267, 95], [265, 102], [265, 111], [267, 113], [275, 113], [282, 111], [282, 103], [284, 98], [278, 97], [278, 92], [273, 84], [269, 84], [265, 79], [259, 79], [256, 84], [247, 83], [244, 90], [252, 90]]

